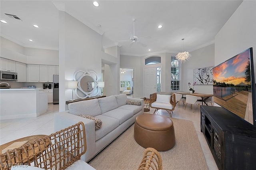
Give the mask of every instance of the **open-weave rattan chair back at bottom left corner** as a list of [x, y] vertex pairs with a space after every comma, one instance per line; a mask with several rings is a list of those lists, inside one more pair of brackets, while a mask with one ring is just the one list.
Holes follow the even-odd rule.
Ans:
[[20, 148], [1, 154], [0, 169], [10, 165], [29, 165], [46, 170], [64, 170], [86, 152], [84, 123], [79, 122]]

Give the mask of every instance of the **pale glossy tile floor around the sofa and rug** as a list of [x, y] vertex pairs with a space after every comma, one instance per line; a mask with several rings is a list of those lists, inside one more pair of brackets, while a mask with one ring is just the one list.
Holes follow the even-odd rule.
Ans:
[[[181, 103], [180, 107], [176, 105], [176, 108], [172, 114], [172, 117], [178, 119], [186, 119], [193, 121], [198, 139], [206, 159], [206, 163], [209, 170], [218, 170], [218, 167], [214, 161], [212, 153], [208, 147], [204, 135], [200, 131], [200, 109], [195, 109], [192, 113], [192, 109], [184, 106]], [[54, 132], [54, 113], [58, 113], [59, 105], [48, 104], [48, 111], [39, 117], [34, 118], [24, 118], [24, 119], [9, 119], [0, 121], [0, 144], [22, 138], [25, 136], [35, 135], [35, 134], [51, 134]], [[154, 113], [154, 110], [150, 108], [148, 113]], [[169, 114], [164, 111], [159, 111], [160, 115], [169, 116]]]

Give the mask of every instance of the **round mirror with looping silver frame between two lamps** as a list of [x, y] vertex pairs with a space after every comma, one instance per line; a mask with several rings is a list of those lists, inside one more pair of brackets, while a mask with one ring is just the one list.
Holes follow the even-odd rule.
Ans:
[[98, 87], [98, 76], [95, 71], [76, 71], [74, 81], [77, 81], [75, 94], [80, 99], [97, 96], [100, 92]]

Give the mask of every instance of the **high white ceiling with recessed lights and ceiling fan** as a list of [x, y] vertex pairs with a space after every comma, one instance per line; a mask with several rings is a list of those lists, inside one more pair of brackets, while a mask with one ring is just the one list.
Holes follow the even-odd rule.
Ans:
[[[92, 0], [60, 0], [65, 11], [84, 22], [99, 34], [102, 45], [119, 45], [124, 55], [149, 55], [152, 53], [193, 51], [214, 43], [214, 37], [242, 3], [240, 0], [102, 0], [95, 7]], [[21, 20], [5, 15], [13, 14]], [[133, 32], [147, 46], [130, 42], [127, 32]], [[24, 47], [58, 49], [58, 10], [49, 0], [1, 0], [0, 34]], [[34, 28], [37, 24], [40, 28]], [[99, 28], [97, 25], [100, 24]], [[161, 29], [157, 28], [162, 25]], [[34, 40], [29, 42], [28, 39]], [[151, 49], [151, 51], [148, 51]]]

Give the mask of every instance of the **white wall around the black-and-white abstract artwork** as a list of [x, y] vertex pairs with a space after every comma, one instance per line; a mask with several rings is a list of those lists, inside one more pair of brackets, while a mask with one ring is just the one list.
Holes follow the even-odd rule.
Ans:
[[[188, 83], [194, 82], [194, 69], [214, 66], [214, 44], [191, 51], [191, 58], [182, 63], [181, 91], [188, 91]], [[196, 93], [213, 93], [212, 85], [195, 85]]]

